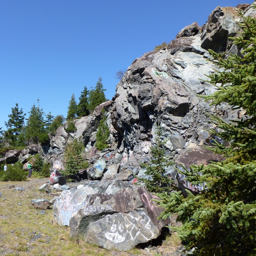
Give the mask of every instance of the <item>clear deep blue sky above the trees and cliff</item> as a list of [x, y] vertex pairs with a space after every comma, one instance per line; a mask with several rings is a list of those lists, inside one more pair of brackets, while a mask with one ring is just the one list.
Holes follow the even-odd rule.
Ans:
[[[108, 99], [120, 69], [185, 26], [206, 23], [218, 6], [253, 0], [2, 0], [0, 1], [0, 127], [15, 103], [24, 113], [67, 116], [74, 93], [102, 77]], [[26, 117], [29, 114], [27, 113]]]

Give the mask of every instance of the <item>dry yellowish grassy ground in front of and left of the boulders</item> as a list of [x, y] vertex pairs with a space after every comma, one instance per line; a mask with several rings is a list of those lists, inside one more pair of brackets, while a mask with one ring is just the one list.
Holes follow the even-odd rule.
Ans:
[[[41, 214], [41, 210], [30, 206], [31, 199], [52, 199], [52, 196], [38, 190], [47, 180], [49, 179], [30, 178], [22, 182], [0, 182], [0, 255], [159, 255], [158, 252], [174, 252], [180, 245], [177, 237], [172, 236], [162, 246], [145, 254], [142, 249], [111, 252], [81, 240], [71, 239], [69, 227], [53, 225], [52, 209]], [[25, 188], [25, 191], [15, 191], [16, 187]]]

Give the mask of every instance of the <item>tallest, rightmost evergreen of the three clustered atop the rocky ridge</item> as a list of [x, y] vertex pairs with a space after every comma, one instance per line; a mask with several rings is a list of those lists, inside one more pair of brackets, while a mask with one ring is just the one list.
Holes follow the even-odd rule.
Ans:
[[89, 109], [91, 112], [106, 101], [105, 93], [106, 89], [103, 89], [102, 78], [99, 77], [99, 80], [94, 89], [91, 89], [89, 92]]

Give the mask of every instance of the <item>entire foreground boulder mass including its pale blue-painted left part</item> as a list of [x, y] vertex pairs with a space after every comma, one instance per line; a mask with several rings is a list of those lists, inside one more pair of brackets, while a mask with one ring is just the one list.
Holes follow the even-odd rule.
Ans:
[[115, 185], [112, 181], [63, 192], [53, 206], [54, 220], [69, 225], [71, 236], [106, 249], [125, 251], [157, 238], [170, 220], [157, 220], [162, 210], [151, 202], [153, 195], [123, 181], [119, 181], [123, 188], [113, 189]]

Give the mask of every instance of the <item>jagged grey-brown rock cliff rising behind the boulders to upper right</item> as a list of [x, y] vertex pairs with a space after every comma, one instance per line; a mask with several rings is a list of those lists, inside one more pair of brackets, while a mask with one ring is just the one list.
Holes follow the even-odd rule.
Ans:
[[[242, 110], [231, 110], [226, 105], [212, 107], [199, 97], [215, 90], [205, 82], [207, 75], [217, 68], [209, 61], [208, 49], [240, 54], [239, 49], [231, 45], [228, 39], [235, 36], [238, 30], [237, 22], [241, 18], [239, 11], [251, 16], [256, 13], [246, 4], [236, 8], [218, 6], [202, 27], [194, 22], [182, 29], [166, 48], [145, 53], [133, 61], [117, 84], [112, 101], [102, 103], [93, 114], [76, 119], [75, 133], [67, 133], [64, 124], [57, 129], [48, 145], [34, 146], [33, 150], [35, 148], [44, 155], [53, 168], [63, 169], [61, 159], [65, 145], [72, 138], [80, 137], [86, 147], [86, 158], [92, 165], [102, 159], [104, 154], [111, 153], [113, 157], [107, 159], [104, 172], [111, 165], [117, 173], [129, 169], [134, 174], [136, 171], [133, 169], [141, 169], [140, 163], [150, 158], [157, 118], [168, 138], [167, 151], [174, 159], [185, 148], [208, 144], [210, 134], [205, 129], [215, 127], [206, 113], [229, 119], [241, 118], [246, 114]], [[108, 115], [111, 133], [110, 147], [105, 153], [94, 147], [103, 108]], [[0, 161], [11, 163], [19, 159], [26, 163], [27, 151], [8, 153]]]

